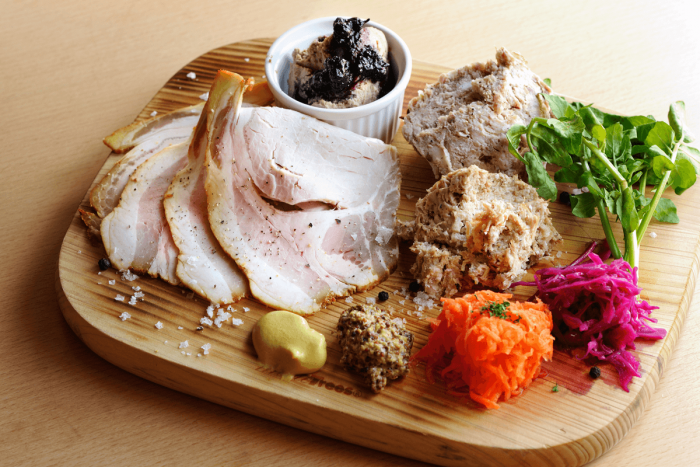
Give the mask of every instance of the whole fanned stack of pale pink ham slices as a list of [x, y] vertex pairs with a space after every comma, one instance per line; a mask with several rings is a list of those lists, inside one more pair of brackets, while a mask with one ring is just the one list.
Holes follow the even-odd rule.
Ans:
[[203, 108], [106, 139], [133, 149], [91, 193], [97, 216], [83, 219], [102, 218], [115, 267], [213, 303], [252, 294], [300, 314], [389, 276], [398, 262], [396, 150], [291, 110], [243, 105], [270, 98], [266, 83], [221, 71]]

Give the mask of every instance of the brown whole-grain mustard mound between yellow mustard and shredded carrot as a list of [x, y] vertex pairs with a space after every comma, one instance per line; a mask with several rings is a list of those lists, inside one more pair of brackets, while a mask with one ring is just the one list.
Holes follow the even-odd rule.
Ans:
[[338, 332], [341, 363], [362, 373], [373, 392], [408, 374], [413, 334], [400, 319], [372, 305], [357, 305], [340, 316]]

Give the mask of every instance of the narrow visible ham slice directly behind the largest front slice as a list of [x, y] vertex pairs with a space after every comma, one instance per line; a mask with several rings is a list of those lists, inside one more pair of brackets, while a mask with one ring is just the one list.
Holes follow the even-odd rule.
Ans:
[[233, 303], [250, 295], [248, 279], [216, 240], [204, 191], [207, 169], [207, 118], [195, 129], [187, 165], [177, 173], [163, 200], [165, 216], [179, 250], [176, 275], [184, 285], [212, 303]]

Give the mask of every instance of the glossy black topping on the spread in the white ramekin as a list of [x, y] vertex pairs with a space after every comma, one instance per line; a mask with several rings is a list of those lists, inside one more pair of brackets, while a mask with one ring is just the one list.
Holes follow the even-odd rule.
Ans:
[[296, 100], [308, 104], [318, 99], [347, 99], [354, 86], [366, 79], [384, 85], [389, 76], [389, 64], [377, 49], [362, 46], [360, 42], [367, 21], [369, 19], [336, 18], [329, 50], [331, 57], [326, 59], [322, 70], [316, 71], [309, 81], [297, 88]]

